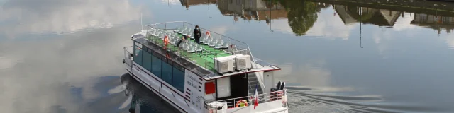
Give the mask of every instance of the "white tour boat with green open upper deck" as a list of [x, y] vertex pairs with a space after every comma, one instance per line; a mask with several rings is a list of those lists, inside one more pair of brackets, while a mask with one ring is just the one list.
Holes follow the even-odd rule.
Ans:
[[180, 112], [289, 112], [285, 83], [275, 80], [279, 67], [253, 57], [245, 42], [204, 28], [197, 44], [194, 26], [146, 25], [123, 48], [126, 71]]

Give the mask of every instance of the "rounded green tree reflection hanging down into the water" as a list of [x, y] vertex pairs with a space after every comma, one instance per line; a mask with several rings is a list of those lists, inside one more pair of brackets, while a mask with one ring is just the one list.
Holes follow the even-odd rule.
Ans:
[[312, 28], [321, 8], [314, 2], [304, 0], [279, 0], [279, 3], [286, 8], [290, 28], [298, 36]]

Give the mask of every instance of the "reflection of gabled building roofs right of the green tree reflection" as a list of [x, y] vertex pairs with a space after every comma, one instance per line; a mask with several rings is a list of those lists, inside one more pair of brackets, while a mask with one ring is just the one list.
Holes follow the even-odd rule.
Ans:
[[365, 8], [358, 6], [334, 5], [334, 9], [341, 17], [343, 23], [372, 23], [375, 25], [392, 26], [401, 11], [390, 11], [385, 9]]

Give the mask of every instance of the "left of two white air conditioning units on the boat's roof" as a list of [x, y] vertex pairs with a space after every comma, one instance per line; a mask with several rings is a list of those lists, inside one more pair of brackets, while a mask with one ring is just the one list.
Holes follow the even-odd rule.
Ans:
[[226, 73], [234, 71], [235, 65], [234, 63], [235, 56], [228, 56], [228, 57], [218, 57], [214, 59], [214, 69], [218, 71], [218, 73]]

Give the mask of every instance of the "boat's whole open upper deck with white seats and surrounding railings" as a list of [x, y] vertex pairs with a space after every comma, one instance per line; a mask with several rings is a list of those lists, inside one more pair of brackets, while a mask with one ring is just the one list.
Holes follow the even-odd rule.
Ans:
[[[202, 38], [212, 38], [214, 40], [218, 40], [218, 42], [225, 41], [223, 44], [228, 44], [228, 49], [214, 49], [214, 47], [202, 44], [201, 46], [197, 46], [194, 44], [194, 42], [192, 42], [195, 47], [200, 47], [200, 49], [203, 48], [203, 51], [206, 51], [205, 53], [193, 53], [189, 50], [184, 51], [183, 49], [179, 49], [174, 44], [167, 44], [167, 47], [164, 46], [164, 44], [162, 43], [162, 38], [166, 35], [169, 37], [170, 42], [178, 41], [177, 39], [182, 36], [194, 37], [192, 35], [192, 29], [188, 28], [187, 26], [194, 28], [195, 25], [182, 21], [155, 23], [147, 25], [147, 30], [142, 30], [142, 32], [132, 35], [131, 39], [135, 42], [136, 45], [141, 44], [142, 47], [147, 47], [148, 49], [153, 50], [153, 52], [155, 52], [156, 54], [161, 54], [162, 56], [167, 57], [167, 59], [172, 60], [175, 64], [183, 66], [185, 69], [187, 69], [187, 71], [191, 71], [192, 73], [195, 73], [205, 80], [240, 75], [243, 73], [280, 70], [279, 67], [273, 64], [253, 57], [248, 44], [234, 40], [231, 37], [226, 37], [216, 32], [206, 30], [201, 27], [200, 29], [202, 31], [210, 32], [209, 35], [204, 34]], [[188, 44], [191, 44], [191, 42], [188, 42]], [[231, 71], [229, 73], [217, 73], [214, 69], [214, 59], [234, 54], [249, 55], [251, 57], [250, 63], [252, 67], [248, 70]]]

